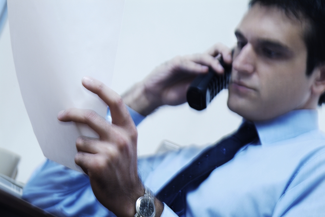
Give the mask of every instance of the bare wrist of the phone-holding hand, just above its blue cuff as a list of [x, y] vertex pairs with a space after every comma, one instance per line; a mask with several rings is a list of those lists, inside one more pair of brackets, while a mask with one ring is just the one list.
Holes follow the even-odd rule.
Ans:
[[157, 97], [146, 90], [143, 82], [136, 83], [130, 90], [122, 95], [124, 103], [137, 113], [147, 116], [152, 113], [161, 103]]

